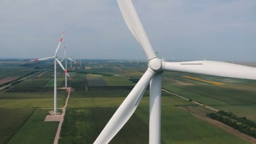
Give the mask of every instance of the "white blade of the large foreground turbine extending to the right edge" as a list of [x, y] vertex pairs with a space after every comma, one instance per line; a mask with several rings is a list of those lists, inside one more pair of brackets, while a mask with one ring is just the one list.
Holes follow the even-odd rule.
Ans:
[[256, 68], [219, 61], [165, 62], [164, 70], [256, 80]]

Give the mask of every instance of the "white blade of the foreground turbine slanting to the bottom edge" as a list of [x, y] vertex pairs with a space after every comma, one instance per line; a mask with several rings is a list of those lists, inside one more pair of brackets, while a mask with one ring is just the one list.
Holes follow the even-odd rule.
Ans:
[[154, 74], [149, 70], [144, 73], [93, 144], [107, 144], [120, 131], [138, 107], [141, 97], [153, 76]]

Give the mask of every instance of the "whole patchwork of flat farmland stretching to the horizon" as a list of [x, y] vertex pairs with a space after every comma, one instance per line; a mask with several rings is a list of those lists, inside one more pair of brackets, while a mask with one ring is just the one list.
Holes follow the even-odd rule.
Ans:
[[[92, 144], [147, 69], [145, 61], [137, 65], [82, 60], [81, 64], [67, 69], [70, 89], [64, 88], [65, 73], [57, 66], [57, 107], [58, 112], [65, 111], [59, 144]], [[55, 143], [59, 121], [45, 119], [53, 110], [53, 69], [53, 61], [0, 61], [1, 144]], [[253, 136], [206, 116], [224, 110], [256, 123], [255, 87], [255, 80], [164, 72], [161, 143], [256, 143]], [[149, 88], [110, 143], [148, 144], [148, 124]]]

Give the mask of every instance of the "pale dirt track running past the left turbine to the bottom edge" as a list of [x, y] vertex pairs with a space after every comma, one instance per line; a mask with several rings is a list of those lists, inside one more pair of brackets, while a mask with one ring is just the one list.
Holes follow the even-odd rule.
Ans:
[[65, 112], [66, 112], [66, 107], [67, 107], [67, 102], [69, 101], [69, 95], [70, 95], [71, 88], [67, 88], [67, 90], [68, 90], [67, 99], [66, 99], [64, 107], [61, 108], [62, 109], [62, 113], [61, 113], [59, 126], [58, 126], [58, 129], [56, 131], [56, 135], [55, 135], [53, 144], [58, 144], [58, 142], [59, 142], [59, 137], [60, 137], [60, 133], [61, 133], [61, 126], [62, 126], [62, 123], [63, 123], [63, 120], [64, 120], [64, 116], [65, 116]]

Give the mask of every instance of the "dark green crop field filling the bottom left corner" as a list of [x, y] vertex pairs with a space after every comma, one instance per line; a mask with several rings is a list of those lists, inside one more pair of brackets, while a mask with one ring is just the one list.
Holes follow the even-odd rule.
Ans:
[[0, 109], [0, 144], [5, 144], [19, 131], [35, 109]]

